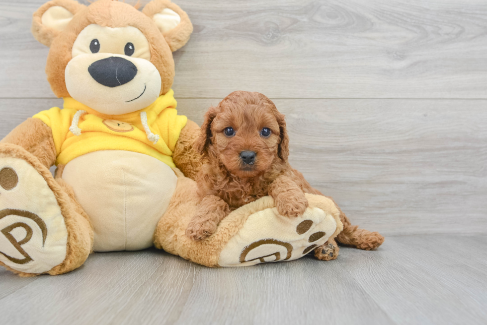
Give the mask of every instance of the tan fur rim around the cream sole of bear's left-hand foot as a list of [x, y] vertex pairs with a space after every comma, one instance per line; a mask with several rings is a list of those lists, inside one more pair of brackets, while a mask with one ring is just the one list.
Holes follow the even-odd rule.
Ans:
[[[71, 188], [62, 180], [56, 180], [34, 155], [27, 152], [24, 148], [10, 143], [0, 144], [0, 157], [13, 157], [25, 160], [45, 179], [49, 188], [53, 191], [61, 212], [64, 216], [66, 228], [68, 230], [68, 245], [66, 248], [65, 260], [52, 268], [48, 274], [56, 275], [69, 272], [81, 266], [86, 260], [93, 247], [93, 230], [88, 216], [76, 203], [74, 193]], [[34, 276], [37, 274], [19, 272], [11, 269], [0, 262], [7, 269], [19, 274], [20, 276]]]

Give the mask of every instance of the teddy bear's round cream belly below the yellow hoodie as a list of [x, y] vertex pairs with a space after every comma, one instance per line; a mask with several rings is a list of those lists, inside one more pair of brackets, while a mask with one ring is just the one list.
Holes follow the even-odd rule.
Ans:
[[122, 150], [96, 151], [73, 159], [62, 178], [73, 187], [93, 224], [96, 252], [151, 247], [177, 182], [163, 162]]

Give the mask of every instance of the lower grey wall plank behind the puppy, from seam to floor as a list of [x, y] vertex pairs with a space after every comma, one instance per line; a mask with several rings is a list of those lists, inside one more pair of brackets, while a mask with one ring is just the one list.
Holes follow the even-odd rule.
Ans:
[[[178, 99], [201, 124], [220, 99]], [[291, 164], [385, 235], [487, 233], [487, 100], [277, 99]], [[59, 99], [0, 99], [0, 137]]]

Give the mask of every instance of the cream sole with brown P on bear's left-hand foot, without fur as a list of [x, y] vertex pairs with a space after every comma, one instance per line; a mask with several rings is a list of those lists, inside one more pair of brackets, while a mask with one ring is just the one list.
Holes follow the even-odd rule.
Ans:
[[25, 160], [0, 157], [0, 262], [43, 273], [66, 258], [68, 231], [56, 196]]

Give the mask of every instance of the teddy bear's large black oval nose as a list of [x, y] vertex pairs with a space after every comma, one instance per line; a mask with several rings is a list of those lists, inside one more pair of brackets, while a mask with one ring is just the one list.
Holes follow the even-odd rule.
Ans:
[[110, 57], [93, 62], [88, 72], [96, 82], [116, 87], [132, 80], [137, 74], [137, 67], [124, 58]]

